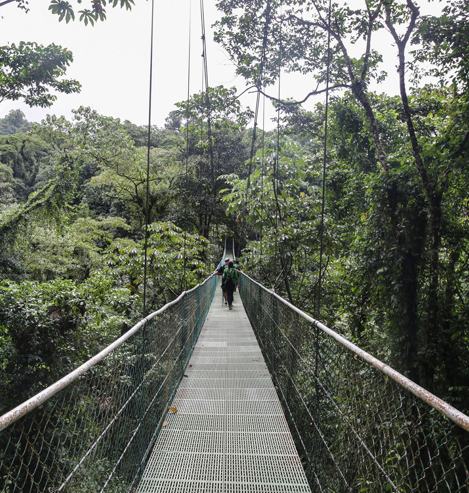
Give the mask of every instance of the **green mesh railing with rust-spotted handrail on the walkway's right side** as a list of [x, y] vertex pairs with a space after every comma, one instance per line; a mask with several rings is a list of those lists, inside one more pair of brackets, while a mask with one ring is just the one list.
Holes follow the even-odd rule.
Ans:
[[469, 493], [468, 416], [257, 282], [241, 283], [312, 491]]

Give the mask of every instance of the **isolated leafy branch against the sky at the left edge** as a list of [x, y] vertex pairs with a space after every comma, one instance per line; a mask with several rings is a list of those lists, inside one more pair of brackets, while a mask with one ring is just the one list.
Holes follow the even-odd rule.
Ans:
[[62, 78], [72, 61], [72, 52], [56, 44], [21, 41], [0, 46], [0, 103], [23, 98], [29, 106], [49, 107], [57, 99], [50, 89], [79, 92], [77, 80]]

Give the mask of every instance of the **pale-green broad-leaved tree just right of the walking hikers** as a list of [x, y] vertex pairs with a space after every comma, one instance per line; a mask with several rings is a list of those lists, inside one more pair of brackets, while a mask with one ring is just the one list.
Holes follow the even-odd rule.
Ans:
[[[264, 157], [263, 170], [258, 165], [249, 184], [247, 179], [226, 176], [230, 188], [222, 190], [223, 200], [227, 214], [244, 218], [260, 236], [248, 243], [243, 266], [266, 285], [284, 292], [295, 305], [314, 311], [321, 190], [317, 172], [300, 147], [287, 142], [280, 152], [278, 171], [274, 146], [258, 152], [259, 161]], [[335, 226], [327, 217], [325, 224], [324, 252], [331, 256], [338, 242]]]

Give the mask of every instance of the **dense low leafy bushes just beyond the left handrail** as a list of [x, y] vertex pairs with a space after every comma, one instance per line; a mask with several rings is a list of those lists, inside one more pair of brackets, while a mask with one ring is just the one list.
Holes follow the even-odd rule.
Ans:
[[[86, 361], [135, 317], [128, 289], [111, 276], [0, 285], [2, 412]], [[129, 318], [130, 317], [130, 318]]]

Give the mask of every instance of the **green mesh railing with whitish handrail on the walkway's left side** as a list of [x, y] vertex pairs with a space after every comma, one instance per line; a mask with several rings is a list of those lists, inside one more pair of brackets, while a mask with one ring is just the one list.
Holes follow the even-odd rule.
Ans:
[[[216, 284], [212, 277], [183, 293], [62, 381], [3, 415], [0, 491], [133, 492]], [[39, 400], [39, 407], [23, 415]]]

